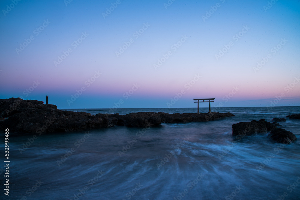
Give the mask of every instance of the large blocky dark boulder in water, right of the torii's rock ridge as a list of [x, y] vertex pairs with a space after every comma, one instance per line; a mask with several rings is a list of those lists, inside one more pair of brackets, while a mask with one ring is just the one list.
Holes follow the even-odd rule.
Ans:
[[239, 122], [232, 125], [232, 135], [253, 135], [253, 134], [264, 134], [268, 131], [272, 131], [277, 127], [271, 122], [260, 119], [259, 121], [252, 120], [251, 122]]

